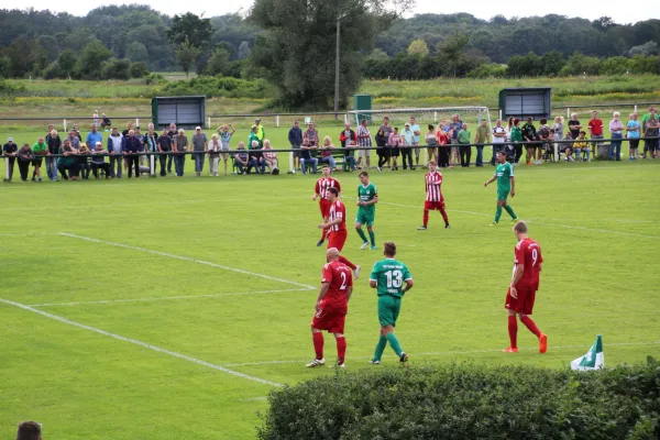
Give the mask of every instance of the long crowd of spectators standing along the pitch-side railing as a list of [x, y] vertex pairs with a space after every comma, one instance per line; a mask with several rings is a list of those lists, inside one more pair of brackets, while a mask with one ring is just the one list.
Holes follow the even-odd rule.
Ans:
[[[187, 153], [191, 155], [197, 176], [204, 173], [207, 157], [211, 176], [220, 175], [221, 162], [224, 175], [234, 170], [237, 174], [279, 173], [277, 152], [273, 151], [271, 141], [265, 138], [260, 119], [254, 121], [248, 143], [239, 142], [235, 150], [230, 147], [235, 133], [232, 124], [219, 127], [209, 140], [200, 127], [188, 136], [184, 129], [177, 130], [174, 123], [158, 134], [152, 123], [148, 124], [146, 133], [142, 133], [140, 127], [133, 128], [133, 123], [128, 122], [121, 133], [117, 127], [106, 129], [109, 134], [103, 142], [102, 133], [97, 130], [98, 120], [98, 112], [95, 111], [91, 130], [85, 139], [78, 125], [74, 125], [64, 139], [50, 125], [46, 134], [38, 136], [32, 146], [29, 143], [19, 146], [9, 138], [2, 148], [4, 157], [8, 158], [8, 179], [12, 179], [16, 162], [23, 182], [30, 178], [30, 166], [32, 180], [42, 182], [44, 162], [48, 179], [55, 182], [59, 180], [59, 177], [65, 180], [89, 179], [90, 174], [96, 179], [122, 178], [124, 175], [129, 178], [133, 175], [140, 177], [141, 174], [151, 173], [152, 156], [154, 172], [160, 168], [160, 175], [167, 176], [173, 173], [174, 164], [174, 174], [182, 177]], [[108, 128], [109, 122], [103, 114], [100, 125]], [[592, 154], [596, 154], [597, 146], [602, 145], [604, 140], [605, 123], [596, 111], [592, 111], [586, 124], [579, 120], [578, 113], [573, 113], [565, 124], [562, 117], [556, 117], [552, 125], [549, 125], [546, 119], [540, 119], [538, 127], [532, 118], [527, 118], [522, 125], [521, 122], [518, 118], [509, 118], [506, 125], [502, 120], [497, 120], [495, 127], [491, 128], [484, 119], [476, 123], [473, 134], [469, 124], [463, 122], [459, 114], [453, 114], [451, 120], [443, 119], [437, 127], [428, 124], [428, 131], [422, 135], [415, 117], [410, 117], [402, 130], [393, 127], [389, 118], [385, 117], [372, 139], [369, 121], [365, 119], [356, 130], [350, 123], [345, 123], [338, 135], [341, 147], [336, 147], [330, 135], [322, 136], [321, 141], [314, 122], [308, 122], [304, 131], [300, 122], [296, 120], [288, 132], [288, 141], [294, 153], [294, 173], [301, 170], [302, 174], [307, 174], [317, 173], [321, 164], [327, 164], [332, 170], [337, 170], [339, 165], [344, 172], [370, 168], [369, 151], [358, 148], [374, 145], [378, 158], [376, 168], [383, 170], [387, 165], [391, 170], [397, 172], [399, 160], [404, 170], [419, 167], [422, 147], [427, 148], [428, 160], [435, 160], [441, 168], [451, 168], [452, 163], [469, 167], [473, 144], [491, 143], [491, 165], [494, 165], [495, 153], [499, 150], [507, 153], [512, 163], [519, 164], [525, 153], [527, 165], [538, 165], [557, 157], [566, 162], [590, 162]], [[622, 160], [624, 140], [629, 143], [630, 161], [658, 157], [659, 127], [653, 106], [649, 107], [641, 121], [634, 112], [624, 123], [619, 112], [614, 112], [608, 123], [608, 160]], [[651, 138], [645, 140], [642, 152], [639, 152], [640, 138]], [[484, 166], [483, 148], [484, 146], [476, 145], [475, 165], [480, 167]]]

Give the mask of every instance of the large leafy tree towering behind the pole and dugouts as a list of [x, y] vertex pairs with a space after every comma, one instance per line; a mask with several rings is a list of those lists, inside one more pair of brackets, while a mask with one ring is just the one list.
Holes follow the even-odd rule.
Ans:
[[340, 101], [362, 79], [362, 52], [376, 34], [414, 0], [256, 0], [249, 21], [266, 32], [257, 36], [252, 61], [277, 85], [284, 103], [327, 108], [334, 96], [337, 23], [340, 22]]

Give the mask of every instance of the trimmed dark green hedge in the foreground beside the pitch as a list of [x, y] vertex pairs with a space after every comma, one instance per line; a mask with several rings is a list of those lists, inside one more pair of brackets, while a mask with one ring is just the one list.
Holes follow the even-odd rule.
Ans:
[[258, 438], [659, 439], [660, 367], [338, 372], [274, 391]]

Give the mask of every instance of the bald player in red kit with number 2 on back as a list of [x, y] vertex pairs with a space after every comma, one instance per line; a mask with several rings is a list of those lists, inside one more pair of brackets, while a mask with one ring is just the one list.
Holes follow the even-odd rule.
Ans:
[[316, 358], [307, 367], [326, 365], [323, 359], [323, 333], [327, 330], [334, 334], [337, 341], [337, 364], [344, 369], [346, 355], [346, 339], [343, 336], [349, 299], [353, 293], [353, 276], [351, 270], [339, 261], [339, 250], [330, 248], [326, 254], [321, 289], [316, 302], [316, 314], [311, 320], [311, 340]]

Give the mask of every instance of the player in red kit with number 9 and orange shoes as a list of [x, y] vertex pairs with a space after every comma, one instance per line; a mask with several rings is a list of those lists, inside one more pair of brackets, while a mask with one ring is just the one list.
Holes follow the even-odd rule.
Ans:
[[518, 321], [520, 317], [529, 331], [539, 339], [539, 353], [548, 350], [548, 337], [539, 330], [529, 317], [534, 310], [536, 292], [539, 288], [539, 274], [543, 263], [539, 243], [527, 237], [527, 223], [519, 221], [514, 227], [514, 233], [518, 238], [516, 244], [516, 260], [514, 261], [514, 278], [506, 294], [505, 308], [508, 311], [508, 331], [512, 344], [505, 349], [505, 353], [518, 352]]

